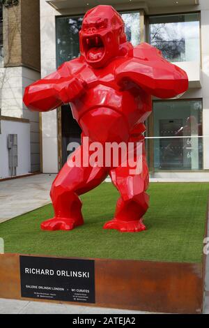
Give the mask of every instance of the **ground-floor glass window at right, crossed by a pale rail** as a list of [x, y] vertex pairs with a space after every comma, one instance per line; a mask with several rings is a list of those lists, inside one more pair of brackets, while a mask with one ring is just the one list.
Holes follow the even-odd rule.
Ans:
[[157, 170], [201, 170], [202, 101], [154, 101], [154, 167]]

